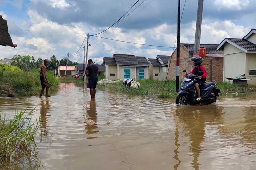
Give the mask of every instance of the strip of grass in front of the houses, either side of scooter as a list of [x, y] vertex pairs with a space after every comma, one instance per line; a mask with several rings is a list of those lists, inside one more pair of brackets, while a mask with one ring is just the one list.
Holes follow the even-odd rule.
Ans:
[[[167, 81], [166, 84], [164, 81], [156, 80], [138, 80], [141, 83], [139, 89], [130, 89], [126, 88], [123, 85], [123, 82], [116, 83], [105, 83], [98, 84], [97, 87], [101, 89], [116, 91], [120, 93], [130, 94], [130, 95], [147, 95], [147, 96], [156, 96], [159, 98], [175, 98], [177, 96], [176, 92], [176, 82]], [[164, 90], [163, 87], [165, 86]], [[229, 95], [232, 93], [238, 92], [241, 93], [251, 93], [256, 92], [256, 86], [253, 87], [243, 87], [236, 86], [230, 83], [217, 83], [217, 88], [222, 92], [221, 95]]]

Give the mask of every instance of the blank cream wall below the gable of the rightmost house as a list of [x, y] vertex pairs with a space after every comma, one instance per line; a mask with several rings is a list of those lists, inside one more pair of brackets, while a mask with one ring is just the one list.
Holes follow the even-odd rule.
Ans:
[[223, 81], [228, 78], [236, 78], [246, 73], [246, 53], [236, 47], [226, 44], [224, 46], [224, 75]]

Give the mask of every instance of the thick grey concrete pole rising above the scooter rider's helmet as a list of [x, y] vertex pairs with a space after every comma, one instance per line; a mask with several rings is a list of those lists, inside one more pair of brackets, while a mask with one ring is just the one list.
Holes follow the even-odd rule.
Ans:
[[201, 38], [201, 26], [202, 26], [202, 16], [203, 16], [203, 0], [198, 0], [197, 24], [196, 24], [195, 45], [194, 45], [194, 56], [195, 56], [195, 54], [199, 54], [200, 38]]

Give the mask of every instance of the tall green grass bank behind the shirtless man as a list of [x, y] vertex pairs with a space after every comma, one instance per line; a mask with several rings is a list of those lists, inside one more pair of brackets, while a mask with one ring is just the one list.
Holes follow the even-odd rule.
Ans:
[[[47, 72], [47, 80], [52, 84], [50, 93], [59, 89], [59, 81], [54, 78], [52, 72]], [[41, 88], [40, 69], [0, 70], [0, 90], [11, 90], [18, 96], [37, 96]]]

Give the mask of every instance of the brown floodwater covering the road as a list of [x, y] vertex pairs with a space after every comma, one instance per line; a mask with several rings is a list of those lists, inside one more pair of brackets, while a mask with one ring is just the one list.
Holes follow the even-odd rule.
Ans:
[[[98, 90], [96, 100], [74, 84], [51, 98], [2, 98], [13, 117], [35, 108], [42, 169], [255, 169], [256, 97], [176, 106], [174, 100]], [[98, 123], [87, 125], [86, 120]], [[107, 122], [111, 122], [107, 124]]]

